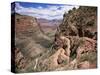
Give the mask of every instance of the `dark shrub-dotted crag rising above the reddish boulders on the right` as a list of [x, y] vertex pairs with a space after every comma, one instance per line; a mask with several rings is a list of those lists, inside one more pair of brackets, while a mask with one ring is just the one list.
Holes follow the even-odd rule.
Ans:
[[63, 15], [63, 23], [59, 26], [59, 33], [66, 36], [80, 36], [95, 38], [97, 35], [97, 8], [73, 8]]

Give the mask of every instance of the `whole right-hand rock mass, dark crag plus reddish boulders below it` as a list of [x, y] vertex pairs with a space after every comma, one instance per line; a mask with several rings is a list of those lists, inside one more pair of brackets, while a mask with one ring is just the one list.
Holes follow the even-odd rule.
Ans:
[[[96, 68], [97, 8], [80, 6], [78, 9], [73, 8], [65, 13], [63, 22], [55, 34], [54, 48], [58, 50], [63, 48], [67, 50], [67, 54], [68, 52], [70, 54], [67, 55], [70, 63], [57, 70]], [[70, 64], [75, 66], [70, 66]]]

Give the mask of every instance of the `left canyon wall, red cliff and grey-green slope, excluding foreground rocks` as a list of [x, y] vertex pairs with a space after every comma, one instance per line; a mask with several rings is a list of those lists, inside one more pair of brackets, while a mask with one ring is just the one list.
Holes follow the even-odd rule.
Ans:
[[21, 48], [26, 56], [33, 57], [45, 51], [47, 46], [42, 43], [49, 44], [50, 38], [42, 33], [36, 18], [15, 14], [15, 25], [16, 46]]

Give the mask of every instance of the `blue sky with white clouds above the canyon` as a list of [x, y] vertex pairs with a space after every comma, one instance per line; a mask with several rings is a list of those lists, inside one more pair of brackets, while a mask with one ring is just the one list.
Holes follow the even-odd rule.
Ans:
[[62, 19], [63, 14], [71, 10], [73, 7], [78, 8], [79, 6], [67, 4], [15, 2], [14, 9], [16, 13], [22, 15], [29, 15], [36, 18], [53, 20]]

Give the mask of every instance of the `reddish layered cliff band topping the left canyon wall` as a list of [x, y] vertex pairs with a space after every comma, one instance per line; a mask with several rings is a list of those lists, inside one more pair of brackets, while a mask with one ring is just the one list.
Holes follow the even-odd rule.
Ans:
[[20, 14], [15, 14], [15, 31], [16, 35], [21, 33], [25, 36], [31, 36], [33, 33], [42, 34], [41, 27], [35, 17]]

